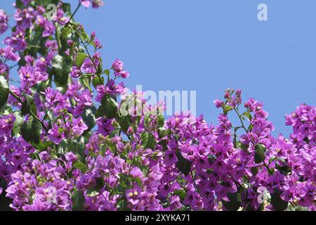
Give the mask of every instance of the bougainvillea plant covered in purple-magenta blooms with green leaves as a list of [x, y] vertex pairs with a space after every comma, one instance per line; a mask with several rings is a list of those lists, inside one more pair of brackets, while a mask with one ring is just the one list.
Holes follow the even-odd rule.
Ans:
[[315, 107], [300, 105], [286, 116], [292, 134], [273, 137], [263, 103], [242, 104], [239, 90], [214, 101], [218, 125], [165, 121], [164, 105], [136, 91], [118, 101], [129, 72], [121, 60], [103, 68], [96, 33], [74, 21], [90, 6], [103, 1], [72, 13], [17, 0], [12, 28], [0, 10], [0, 33], [11, 29], [0, 49], [2, 210], [316, 210]]

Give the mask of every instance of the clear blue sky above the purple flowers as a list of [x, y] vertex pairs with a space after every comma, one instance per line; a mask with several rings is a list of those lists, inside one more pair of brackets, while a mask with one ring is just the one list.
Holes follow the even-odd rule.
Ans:
[[[12, 3], [0, 8], [12, 13]], [[266, 22], [257, 20], [260, 3]], [[124, 61], [126, 86], [196, 90], [208, 122], [217, 123], [213, 100], [228, 87], [263, 101], [275, 134], [289, 134], [284, 115], [296, 105], [316, 103], [315, 0], [105, 0], [75, 19], [96, 31], [105, 65]]]

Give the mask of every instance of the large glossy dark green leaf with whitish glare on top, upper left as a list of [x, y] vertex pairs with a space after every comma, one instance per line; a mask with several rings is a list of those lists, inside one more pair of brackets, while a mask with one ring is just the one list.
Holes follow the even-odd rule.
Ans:
[[65, 56], [57, 55], [53, 58], [52, 68], [57, 86], [67, 86], [72, 62]]

